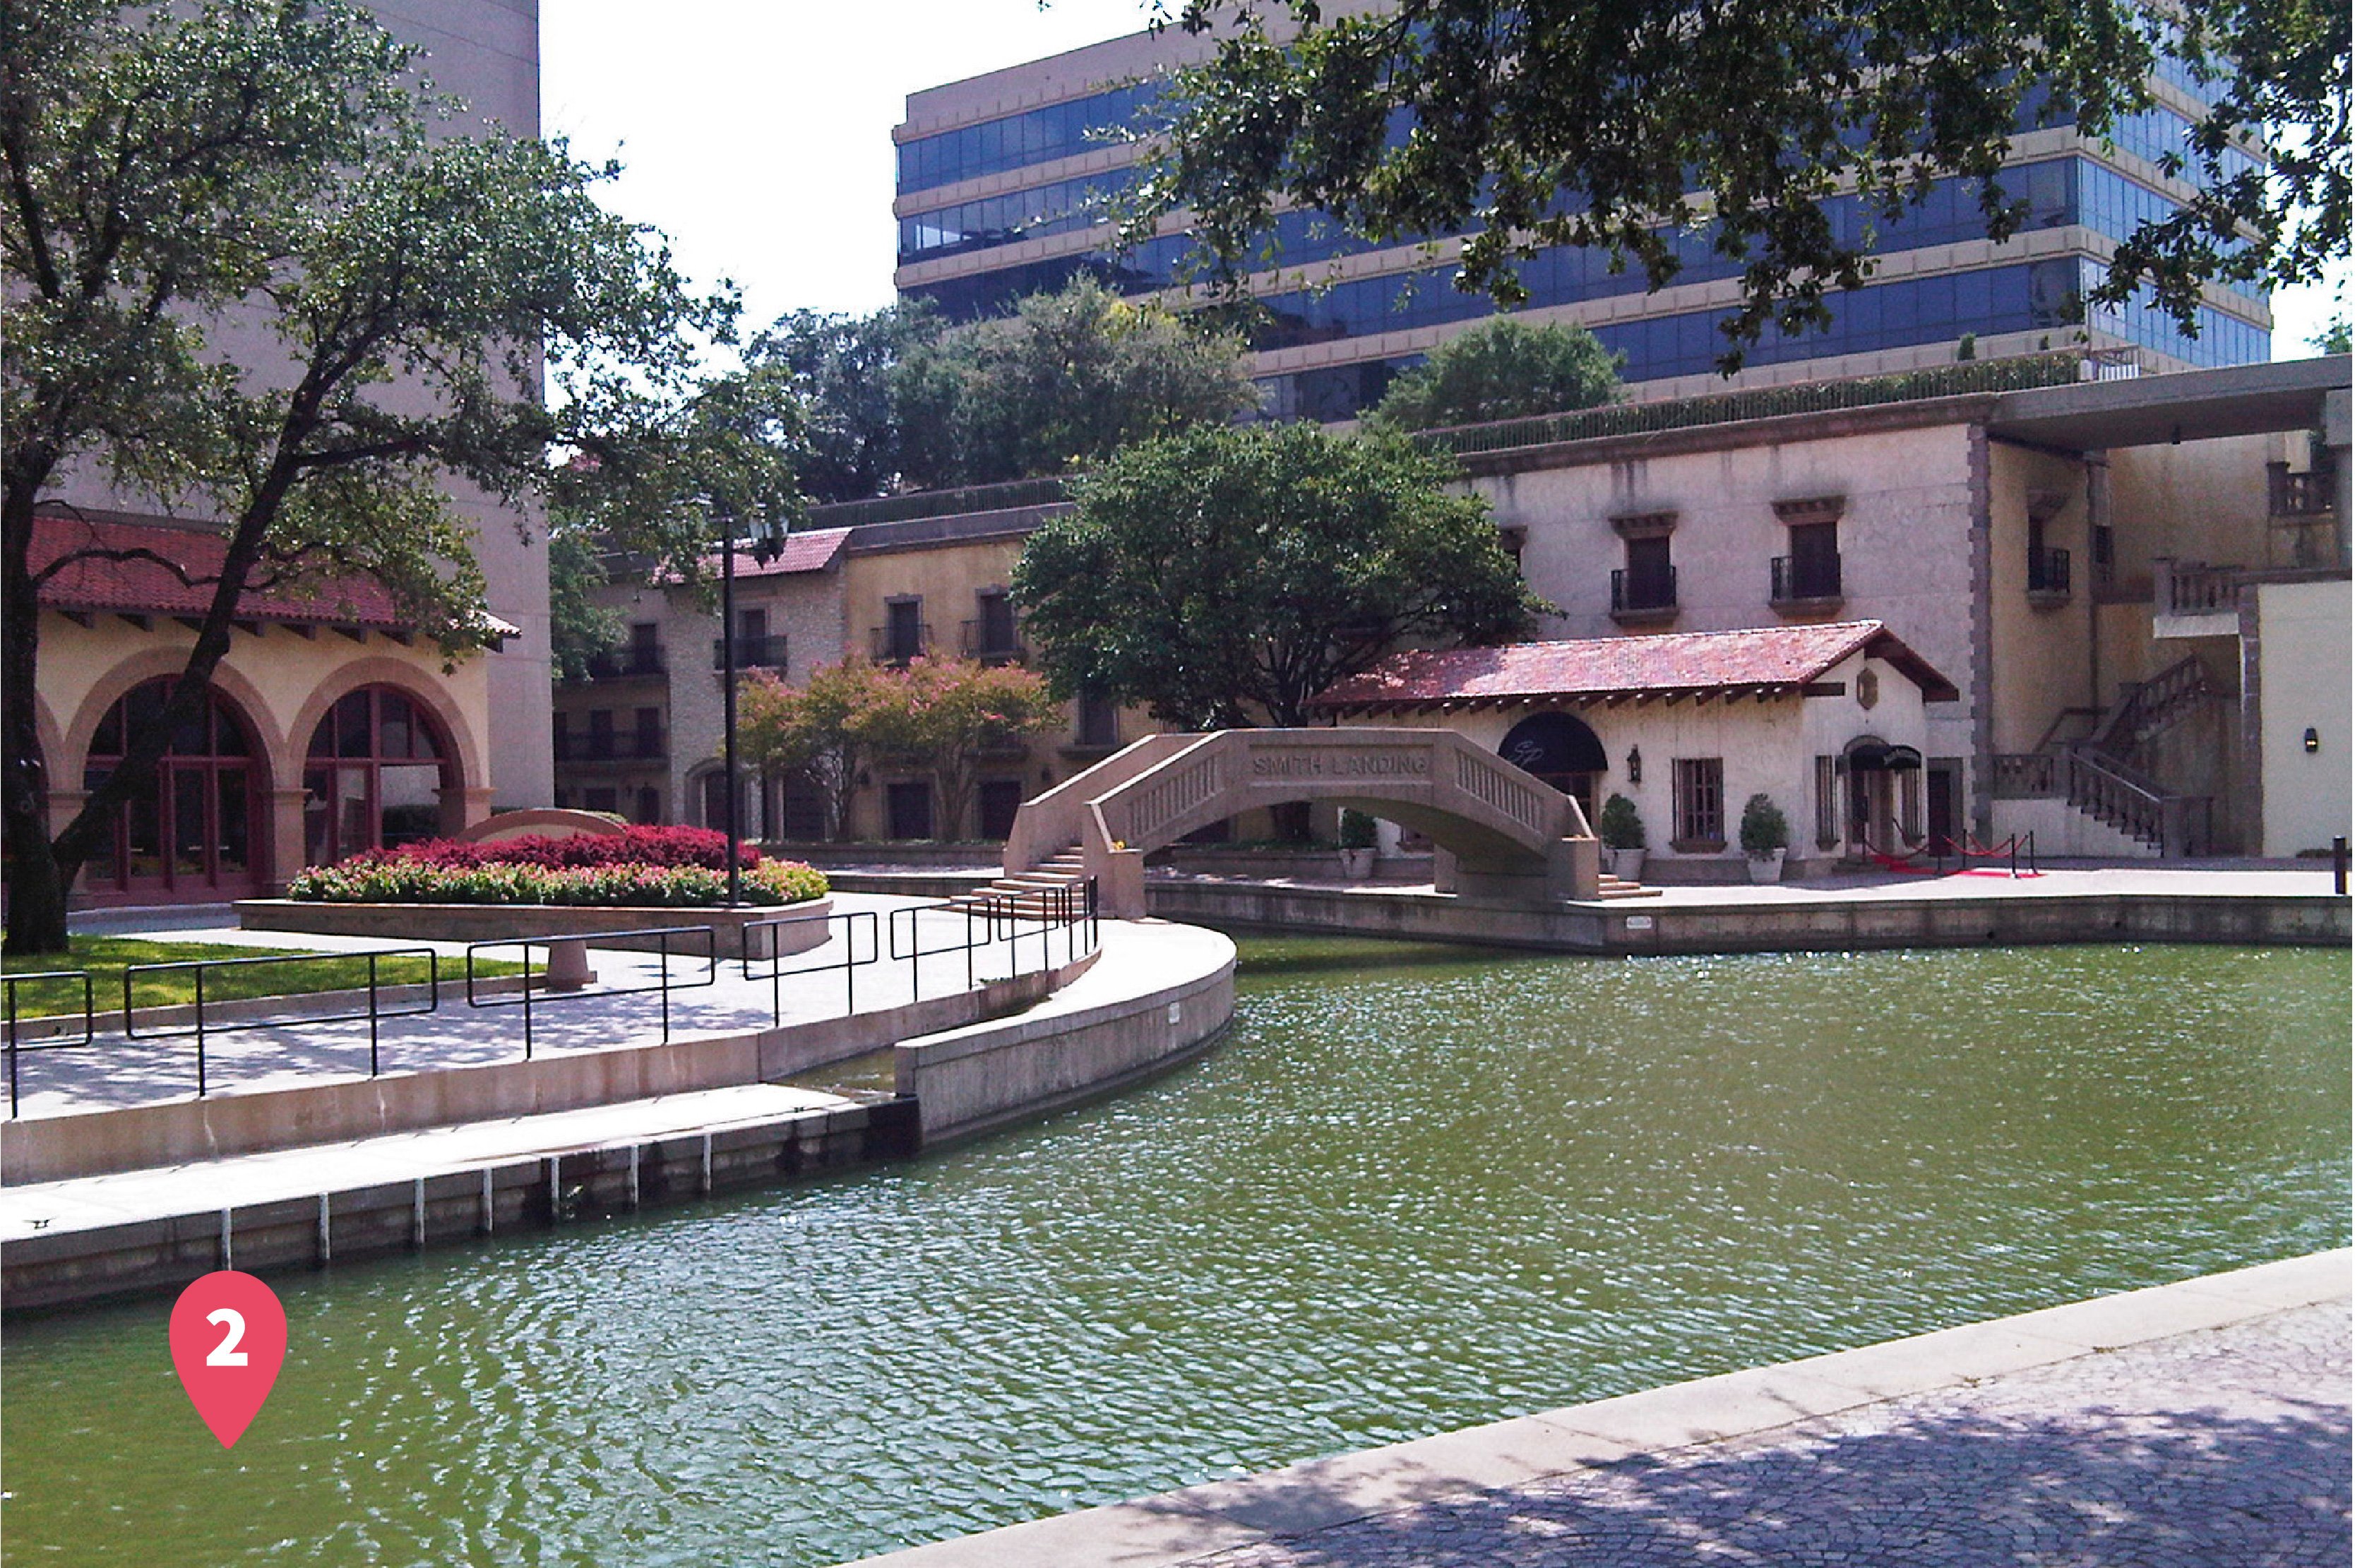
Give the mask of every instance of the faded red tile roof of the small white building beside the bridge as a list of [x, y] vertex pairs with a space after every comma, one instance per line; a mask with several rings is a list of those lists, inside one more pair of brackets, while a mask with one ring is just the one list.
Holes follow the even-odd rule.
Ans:
[[1955, 683], [1879, 622], [1672, 631], [1653, 638], [1437, 647], [1389, 655], [1328, 687], [1319, 709], [1397, 709], [1437, 702], [1531, 697], [1627, 697], [1639, 692], [1783, 692], [1823, 676], [1853, 652], [1886, 659], [1922, 687], [1924, 702], [1952, 702]]

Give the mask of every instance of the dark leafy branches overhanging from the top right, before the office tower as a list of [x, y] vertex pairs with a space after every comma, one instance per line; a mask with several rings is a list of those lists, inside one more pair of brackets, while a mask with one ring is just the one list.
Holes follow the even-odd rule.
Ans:
[[[1279, 9], [1279, 7], [1267, 7]], [[1333, 7], [1335, 12], [1340, 7]], [[2202, 280], [2313, 283], [2348, 254], [2348, 9], [2336, 0], [1835, 0], [1618, 5], [1394, 0], [1328, 14], [1288, 0], [1279, 42], [1260, 7], [1187, 0], [1180, 26], [1227, 26], [1178, 75], [1166, 151], [1123, 238], [1187, 210], [1210, 275], [1262, 266], [1274, 202], [1359, 235], [1462, 233], [1458, 287], [1521, 304], [1514, 264], [1594, 245], [1674, 280], [1677, 231], [1738, 264], [1722, 365], [1766, 323], [1827, 325], [1825, 292], [1858, 287], [1868, 242], [1842, 242], [1823, 200], [1853, 188], [1891, 221], [1936, 177], [1978, 181], [1988, 235], [2025, 202], [1999, 179], [2021, 127], [2072, 118], [2105, 137], [2150, 106], [2162, 54], [2214, 97], [2167, 172], [2200, 186], [2115, 252], [2098, 299], [2148, 285], [2195, 325]], [[1392, 134], [1411, 120], [1406, 137]], [[2244, 148], [2270, 144], [2270, 172]]]

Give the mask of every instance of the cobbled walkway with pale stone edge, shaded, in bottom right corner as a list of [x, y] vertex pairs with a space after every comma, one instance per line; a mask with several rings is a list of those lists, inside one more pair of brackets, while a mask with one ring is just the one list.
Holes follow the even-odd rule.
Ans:
[[895, 1568], [2343, 1568], [2348, 1253], [1451, 1431]]

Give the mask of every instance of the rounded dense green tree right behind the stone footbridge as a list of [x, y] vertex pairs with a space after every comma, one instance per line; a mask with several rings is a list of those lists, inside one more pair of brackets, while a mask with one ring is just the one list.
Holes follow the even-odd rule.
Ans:
[[1060, 692], [1187, 730], [1300, 725], [1397, 643], [1495, 643], [1540, 605], [1479, 497], [1408, 438], [1220, 426], [1140, 443], [1022, 549], [1013, 591]]

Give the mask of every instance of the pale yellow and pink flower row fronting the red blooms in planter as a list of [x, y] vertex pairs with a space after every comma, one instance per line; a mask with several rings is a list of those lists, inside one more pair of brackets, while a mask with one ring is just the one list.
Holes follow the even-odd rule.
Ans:
[[[718, 838], [718, 833], [714, 836]], [[827, 876], [794, 859], [756, 859], [744, 866], [742, 888], [747, 904], [801, 904], [827, 895]], [[539, 866], [528, 862], [492, 862], [452, 866], [414, 855], [358, 855], [334, 866], [297, 871], [287, 883], [287, 897], [323, 904], [638, 904], [704, 909], [728, 899], [728, 873], [695, 864]]]

